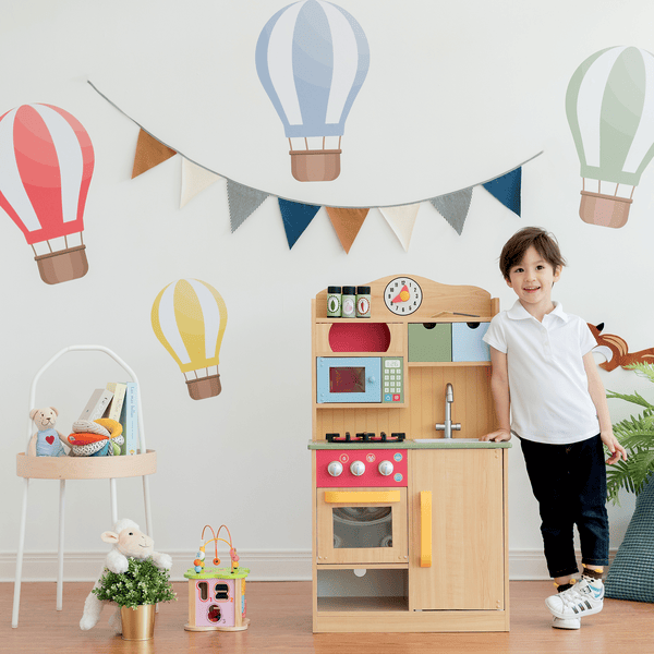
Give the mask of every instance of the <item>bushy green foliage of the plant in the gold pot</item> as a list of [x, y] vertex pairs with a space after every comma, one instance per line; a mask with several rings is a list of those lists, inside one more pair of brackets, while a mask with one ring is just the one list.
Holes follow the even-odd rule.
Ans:
[[100, 585], [92, 591], [98, 600], [116, 602], [119, 606], [130, 608], [177, 600], [168, 570], [160, 570], [152, 559], [140, 561], [130, 558], [128, 561], [128, 571], [120, 574], [105, 568]]

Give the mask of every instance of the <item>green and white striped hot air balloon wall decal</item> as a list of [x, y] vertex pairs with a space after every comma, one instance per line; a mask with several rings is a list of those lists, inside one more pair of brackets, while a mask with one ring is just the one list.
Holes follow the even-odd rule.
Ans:
[[570, 80], [566, 113], [583, 178], [579, 215], [620, 228], [654, 156], [654, 56], [623, 46], [595, 52]]

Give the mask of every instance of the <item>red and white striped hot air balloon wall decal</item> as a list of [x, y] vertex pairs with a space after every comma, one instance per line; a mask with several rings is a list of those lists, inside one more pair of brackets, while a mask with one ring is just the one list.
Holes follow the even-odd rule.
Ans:
[[[22, 105], [0, 118], [0, 206], [34, 251], [41, 279], [59, 283], [88, 271], [84, 208], [95, 157], [86, 130], [52, 105]], [[75, 237], [69, 246], [69, 237]], [[63, 238], [63, 249], [53, 250]], [[34, 245], [46, 242], [49, 252]], [[45, 250], [45, 249], [44, 249]]]

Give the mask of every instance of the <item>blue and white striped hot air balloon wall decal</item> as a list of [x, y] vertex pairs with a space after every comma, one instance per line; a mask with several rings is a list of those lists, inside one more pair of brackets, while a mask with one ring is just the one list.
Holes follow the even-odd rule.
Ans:
[[[361, 25], [331, 2], [295, 2], [266, 23], [255, 61], [289, 140], [293, 177], [301, 182], [338, 178], [346, 119], [370, 64]], [[304, 147], [293, 148], [292, 138]]]

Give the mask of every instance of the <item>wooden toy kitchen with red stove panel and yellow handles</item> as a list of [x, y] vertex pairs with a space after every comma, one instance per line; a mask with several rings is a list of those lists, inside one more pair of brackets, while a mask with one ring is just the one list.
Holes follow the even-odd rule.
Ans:
[[313, 630], [508, 631], [510, 444], [479, 440], [499, 302], [416, 276], [368, 286], [370, 317], [312, 300]]

